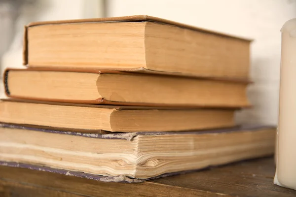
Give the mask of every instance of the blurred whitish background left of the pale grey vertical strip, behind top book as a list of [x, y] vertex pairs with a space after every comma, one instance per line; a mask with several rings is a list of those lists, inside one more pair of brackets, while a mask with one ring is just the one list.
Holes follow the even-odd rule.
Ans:
[[5, 67], [22, 66], [24, 25], [33, 21], [52, 21], [103, 17], [102, 0], [35, 0], [23, 4], [19, 17], [14, 21], [14, 38], [0, 63]]

